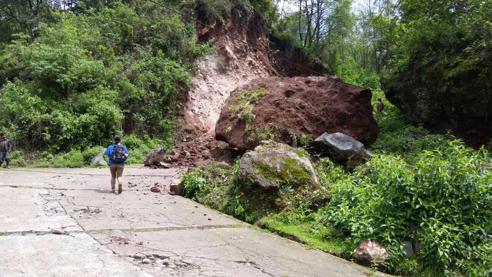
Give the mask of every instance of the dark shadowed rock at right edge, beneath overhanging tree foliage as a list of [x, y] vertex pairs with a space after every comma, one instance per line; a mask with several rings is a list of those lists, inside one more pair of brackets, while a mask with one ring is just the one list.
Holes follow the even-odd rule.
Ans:
[[447, 54], [431, 59], [418, 54], [407, 67], [381, 78], [386, 98], [409, 123], [423, 124], [432, 132], [451, 130], [473, 147], [489, 143], [492, 51], [479, 48], [484, 52], [477, 51], [476, 59], [458, 58], [460, 62], [450, 62]]

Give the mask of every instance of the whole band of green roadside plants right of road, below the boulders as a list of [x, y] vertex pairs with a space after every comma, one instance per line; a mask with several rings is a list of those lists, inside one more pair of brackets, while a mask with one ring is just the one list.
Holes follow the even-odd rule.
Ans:
[[[381, 93], [374, 93], [373, 101]], [[366, 164], [349, 173], [328, 158], [317, 162], [318, 177], [328, 188], [321, 197], [307, 190], [281, 211], [258, 206], [239, 189], [237, 164], [186, 173], [184, 195], [349, 259], [359, 243], [373, 238], [389, 251], [383, 264], [388, 273], [489, 276], [492, 159], [488, 152], [407, 125], [398, 109], [385, 104], [386, 109], [376, 115], [380, 136], [370, 148], [376, 155]], [[279, 198], [285, 197], [282, 190], [278, 193]], [[420, 251], [406, 258], [404, 241], [419, 242]]]

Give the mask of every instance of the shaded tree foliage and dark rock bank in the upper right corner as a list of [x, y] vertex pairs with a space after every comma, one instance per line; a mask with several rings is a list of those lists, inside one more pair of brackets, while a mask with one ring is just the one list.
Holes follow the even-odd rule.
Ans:
[[382, 79], [388, 99], [412, 122], [486, 144], [492, 137], [492, 2], [404, 0], [400, 16]]

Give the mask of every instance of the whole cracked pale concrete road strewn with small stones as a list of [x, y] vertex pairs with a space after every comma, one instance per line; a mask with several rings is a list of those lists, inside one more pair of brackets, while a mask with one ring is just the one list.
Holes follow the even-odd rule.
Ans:
[[118, 195], [108, 168], [0, 170], [0, 277], [369, 275], [169, 195], [178, 175], [127, 166]]

